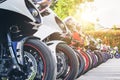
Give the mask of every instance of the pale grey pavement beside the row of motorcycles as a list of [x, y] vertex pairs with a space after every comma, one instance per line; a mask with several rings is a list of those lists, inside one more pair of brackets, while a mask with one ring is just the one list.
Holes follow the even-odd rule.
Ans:
[[76, 80], [120, 80], [120, 59], [109, 59]]

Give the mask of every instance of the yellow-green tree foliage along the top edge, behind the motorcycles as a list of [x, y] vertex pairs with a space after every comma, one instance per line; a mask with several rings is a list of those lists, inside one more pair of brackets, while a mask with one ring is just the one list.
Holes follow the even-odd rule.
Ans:
[[85, 1], [91, 2], [94, 0], [58, 0], [57, 3], [52, 4], [51, 8], [61, 19], [64, 19], [67, 16], [74, 15], [77, 6]]

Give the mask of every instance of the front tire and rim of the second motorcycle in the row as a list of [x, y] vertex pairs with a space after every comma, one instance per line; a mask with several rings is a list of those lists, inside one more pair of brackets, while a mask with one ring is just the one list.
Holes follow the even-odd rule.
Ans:
[[[57, 60], [58, 60], [58, 57], [61, 57], [59, 56], [59, 54], [64, 55], [61, 57], [61, 60], [60, 60], [61, 64], [58, 64], [59, 61], [57, 62], [57, 66], [62, 65], [61, 66], [62, 74], [61, 75], [57, 74], [57, 78], [61, 78], [62, 80], [75, 80], [77, 73], [79, 71], [79, 62], [74, 50], [71, 47], [69, 47], [67, 44], [60, 43], [56, 47], [56, 52], [57, 52], [56, 53]], [[62, 61], [64, 61], [64, 63], [62, 63]], [[57, 71], [59, 71], [58, 67], [57, 67]]]

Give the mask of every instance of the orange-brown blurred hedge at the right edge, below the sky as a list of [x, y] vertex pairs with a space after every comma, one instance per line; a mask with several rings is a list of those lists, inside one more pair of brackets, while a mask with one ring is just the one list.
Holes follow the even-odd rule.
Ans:
[[104, 44], [111, 47], [118, 46], [120, 50], [120, 30], [107, 30], [107, 31], [88, 31], [87, 34], [100, 38]]

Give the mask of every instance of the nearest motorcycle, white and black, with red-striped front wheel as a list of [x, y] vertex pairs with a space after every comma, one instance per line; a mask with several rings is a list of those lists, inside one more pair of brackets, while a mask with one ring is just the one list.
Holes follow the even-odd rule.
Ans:
[[32, 36], [41, 22], [32, 1], [0, 1], [0, 80], [56, 80], [51, 51]]

